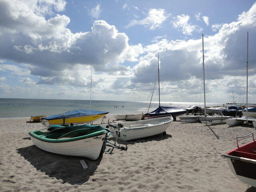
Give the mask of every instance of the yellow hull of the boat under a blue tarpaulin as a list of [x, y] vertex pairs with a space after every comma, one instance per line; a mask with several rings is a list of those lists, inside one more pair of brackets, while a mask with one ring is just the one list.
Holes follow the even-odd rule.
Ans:
[[84, 124], [84, 123], [94, 122], [106, 114], [80, 116], [80, 117], [72, 117], [72, 118], [61, 118], [61, 119], [52, 119], [52, 120], [43, 119], [42, 124], [44, 124], [46, 127], [49, 127], [51, 125], [70, 125], [72, 123]]

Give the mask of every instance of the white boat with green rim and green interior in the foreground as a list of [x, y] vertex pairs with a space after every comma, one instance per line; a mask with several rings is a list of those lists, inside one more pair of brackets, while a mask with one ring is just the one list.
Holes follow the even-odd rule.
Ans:
[[96, 160], [105, 151], [110, 131], [99, 125], [53, 125], [46, 132], [31, 131], [29, 135], [33, 144], [42, 150]]

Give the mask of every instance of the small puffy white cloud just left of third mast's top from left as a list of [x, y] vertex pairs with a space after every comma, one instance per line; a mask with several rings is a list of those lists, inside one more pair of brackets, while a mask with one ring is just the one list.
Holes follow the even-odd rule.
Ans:
[[201, 32], [202, 28], [197, 25], [191, 25], [188, 23], [189, 18], [190, 17], [188, 15], [178, 15], [176, 18], [174, 18], [174, 28], [181, 29], [184, 35], [192, 35], [192, 32], [194, 31]]

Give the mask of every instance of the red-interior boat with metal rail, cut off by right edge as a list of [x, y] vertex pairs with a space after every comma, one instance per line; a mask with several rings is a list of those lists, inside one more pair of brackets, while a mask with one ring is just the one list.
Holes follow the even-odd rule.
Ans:
[[[238, 141], [252, 136], [252, 141], [242, 146]], [[222, 154], [228, 162], [232, 173], [242, 182], [256, 187], [256, 141], [253, 133], [236, 137], [237, 147]]]

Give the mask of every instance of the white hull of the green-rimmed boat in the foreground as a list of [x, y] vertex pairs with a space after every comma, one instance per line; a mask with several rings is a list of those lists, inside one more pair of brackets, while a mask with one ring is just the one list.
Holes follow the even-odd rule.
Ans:
[[61, 155], [80, 156], [96, 160], [102, 148], [105, 134], [69, 142], [44, 142], [30, 136], [33, 144], [38, 148]]

